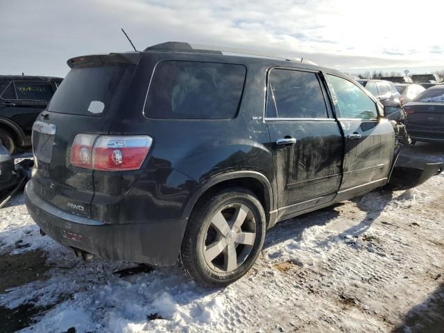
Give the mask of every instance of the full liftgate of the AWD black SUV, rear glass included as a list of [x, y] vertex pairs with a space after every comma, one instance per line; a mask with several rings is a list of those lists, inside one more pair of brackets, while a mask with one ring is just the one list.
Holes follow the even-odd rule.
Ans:
[[108, 134], [119, 107], [117, 95], [134, 67], [106, 60], [101, 56], [99, 62], [71, 69], [33, 126], [35, 191], [62, 210], [85, 217], [91, 214], [93, 171], [71, 165], [71, 146], [78, 133]]

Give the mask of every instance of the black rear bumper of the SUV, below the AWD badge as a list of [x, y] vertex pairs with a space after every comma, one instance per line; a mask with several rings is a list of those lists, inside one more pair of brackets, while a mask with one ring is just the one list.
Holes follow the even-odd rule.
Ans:
[[[58, 243], [106, 259], [169, 266], [177, 262], [187, 219], [108, 224], [50, 205], [26, 184], [25, 203], [39, 227]], [[147, 214], [149, 215], [149, 214]]]

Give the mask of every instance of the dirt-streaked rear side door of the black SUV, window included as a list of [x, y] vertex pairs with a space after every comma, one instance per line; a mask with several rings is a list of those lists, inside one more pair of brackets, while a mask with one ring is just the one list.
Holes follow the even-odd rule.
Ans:
[[266, 124], [280, 217], [330, 202], [341, 183], [343, 138], [317, 71], [268, 71]]

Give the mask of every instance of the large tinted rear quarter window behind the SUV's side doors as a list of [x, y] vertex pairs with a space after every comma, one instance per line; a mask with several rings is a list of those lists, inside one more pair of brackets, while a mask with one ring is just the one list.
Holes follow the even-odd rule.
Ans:
[[242, 65], [160, 62], [151, 80], [149, 118], [230, 119], [236, 117], [246, 76]]

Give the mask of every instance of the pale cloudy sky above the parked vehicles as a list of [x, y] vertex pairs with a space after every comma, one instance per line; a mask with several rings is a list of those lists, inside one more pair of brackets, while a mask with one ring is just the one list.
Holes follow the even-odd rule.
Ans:
[[0, 74], [65, 76], [66, 60], [166, 41], [302, 56], [359, 73], [444, 69], [442, 0], [0, 0]]

